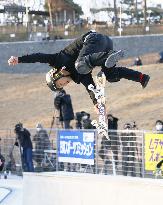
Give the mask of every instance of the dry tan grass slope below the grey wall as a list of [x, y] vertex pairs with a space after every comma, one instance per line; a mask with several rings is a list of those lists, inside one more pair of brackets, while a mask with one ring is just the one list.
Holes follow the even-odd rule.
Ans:
[[[157, 60], [156, 54], [150, 55], [143, 56], [143, 61]], [[133, 59], [121, 64], [130, 64], [130, 61]], [[119, 118], [120, 129], [128, 121], [136, 121], [140, 129], [152, 129], [157, 119], [163, 120], [163, 64], [131, 68], [151, 76], [148, 87], [143, 90], [139, 83], [127, 80], [107, 83], [107, 110]], [[72, 96], [75, 112], [84, 110], [92, 119], [97, 117], [82, 85], [71, 83], [66, 91]], [[0, 74], [0, 129], [13, 128], [19, 121], [29, 128], [37, 122], [50, 127], [52, 116], [53, 93], [46, 86], [45, 74]]]

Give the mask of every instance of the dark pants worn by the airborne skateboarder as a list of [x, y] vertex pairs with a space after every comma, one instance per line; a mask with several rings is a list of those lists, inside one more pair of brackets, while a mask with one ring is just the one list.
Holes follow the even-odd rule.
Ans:
[[126, 67], [105, 67], [105, 61], [112, 51], [113, 42], [108, 36], [91, 33], [84, 42], [77, 62], [84, 62], [82, 64], [83, 70], [88, 69], [90, 71], [90, 67], [92, 69], [95, 66], [101, 66], [108, 82], [117, 82], [122, 78], [140, 82], [141, 73], [138, 71]]

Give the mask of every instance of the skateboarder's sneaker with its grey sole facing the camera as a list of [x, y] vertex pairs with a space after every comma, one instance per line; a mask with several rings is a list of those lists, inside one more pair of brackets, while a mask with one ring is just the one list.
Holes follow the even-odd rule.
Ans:
[[124, 51], [114, 51], [105, 61], [105, 66], [107, 68], [112, 68], [116, 62], [118, 62], [124, 56]]

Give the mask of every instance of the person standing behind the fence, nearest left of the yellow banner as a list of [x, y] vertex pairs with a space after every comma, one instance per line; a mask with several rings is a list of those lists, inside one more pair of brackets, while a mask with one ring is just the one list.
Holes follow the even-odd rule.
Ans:
[[130, 123], [124, 125], [124, 130], [126, 130], [126, 132], [121, 135], [123, 175], [127, 176], [130, 174], [135, 177], [135, 152], [137, 148], [136, 135], [131, 131], [133, 130], [133, 126]]

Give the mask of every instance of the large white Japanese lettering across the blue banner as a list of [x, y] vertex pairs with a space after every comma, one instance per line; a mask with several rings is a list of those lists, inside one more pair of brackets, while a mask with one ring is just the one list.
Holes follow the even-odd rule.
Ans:
[[61, 141], [60, 142], [60, 153], [61, 154], [70, 154], [73, 151], [73, 154], [91, 156], [93, 153], [93, 147], [91, 143], [80, 143], [72, 141]]

